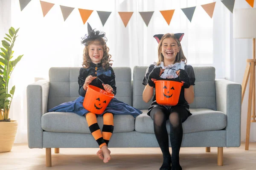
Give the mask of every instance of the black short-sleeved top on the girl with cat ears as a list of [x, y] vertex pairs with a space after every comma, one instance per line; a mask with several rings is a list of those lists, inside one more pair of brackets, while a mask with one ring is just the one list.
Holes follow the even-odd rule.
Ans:
[[[151, 64], [147, 68], [145, 77], [142, 80], [143, 85], [148, 84], [148, 75], [153, 69], [154, 69], [154, 64]], [[195, 85], [195, 73], [194, 73], [193, 67], [191, 65], [185, 65], [185, 70], [189, 74], [190, 85]], [[163, 79], [160, 77], [159, 80], [172, 80], [172, 81], [180, 82], [179, 77], [174, 78], [174, 79]], [[154, 94], [152, 101], [154, 102], [155, 100], [156, 100], [156, 94]], [[186, 108], [189, 108], [189, 104], [188, 104], [188, 102], [186, 102], [185, 97], [184, 97], [184, 87], [183, 86], [181, 87], [181, 90], [180, 90], [180, 98], [179, 98], [179, 102], [177, 105], [182, 105], [182, 106], [185, 106]]]

